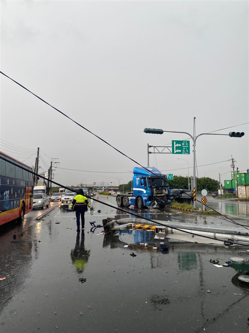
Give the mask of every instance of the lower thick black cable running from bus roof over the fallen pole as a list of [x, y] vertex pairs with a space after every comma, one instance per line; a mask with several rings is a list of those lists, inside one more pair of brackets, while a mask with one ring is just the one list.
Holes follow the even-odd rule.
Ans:
[[[0, 159], [5, 161], [5, 159], [4, 159], [2, 156], [0, 156]], [[27, 169], [27, 168], [25, 168], [25, 167], [23, 167], [23, 166], [20, 166], [20, 165], [18, 165], [18, 164], [15, 164], [14, 162], [12, 162], [12, 161], [10, 161], [10, 160], [8, 160], [8, 163], [10, 163], [10, 164], [12, 164], [12, 165], [14, 165], [14, 166], [17, 166], [17, 167], [19, 167], [19, 168], [21, 168], [21, 169], [23, 169], [23, 170], [25, 170], [25, 171], [27, 171], [27, 172], [29, 172], [29, 173], [32, 173], [33, 175], [37, 175], [37, 176], [39, 176], [40, 178], [42, 178], [42, 179], [48, 181], [48, 178], [43, 177], [43, 176], [41, 176], [40, 174], [38, 174], [38, 173], [36, 173], [36, 172], [34, 172], [34, 171], [30, 171], [29, 169]], [[65, 185], [62, 185], [62, 184], [57, 183], [56, 181], [53, 181], [53, 180], [50, 180], [50, 179], [49, 179], [49, 181], [50, 181], [51, 183], [57, 185], [57, 186], [64, 187], [65, 189], [68, 189], [68, 190], [70, 190], [70, 191], [72, 191], [72, 192], [75, 192], [75, 193], [77, 193], [77, 194], [80, 194], [77, 190], [75, 191], [73, 188], [67, 187], [67, 186], [65, 186]], [[105, 205], [105, 206], [112, 207], [112, 208], [114, 208], [114, 209], [118, 209], [118, 210], [120, 210], [120, 211], [123, 211], [124, 213], [127, 213], [127, 211], [124, 210], [124, 209], [121, 208], [121, 207], [113, 206], [113, 205], [111, 205], [110, 203], [106, 203], [106, 202], [103, 202], [103, 201], [97, 200], [97, 199], [95, 199], [95, 198], [93, 198], [93, 197], [90, 197], [89, 195], [86, 195], [86, 194], [84, 194], [84, 196], [87, 197], [88, 199], [93, 200], [93, 201], [96, 201], [96, 202], [102, 203], [102, 204]], [[135, 216], [135, 217], [137, 217], [137, 218], [139, 218], [139, 219], [141, 220], [141, 216], [139, 216], [139, 215], [137, 215], [137, 214], [135, 214], [135, 213], [132, 213], [132, 212], [129, 212], [129, 214], [130, 214], [130, 215], [133, 215], [133, 216]], [[151, 220], [151, 219], [149, 219], [149, 218], [143, 217], [143, 219], [146, 220], [146, 221], [149, 221], [149, 222], [153, 222], [153, 223], [154, 223], [154, 221]], [[170, 227], [169, 225], [165, 225], [165, 224], [163, 224], [163, 223], [159, 223], [159, 222], [158, 222], [158, 224], [161, 225], [161, 226], [167, 226], [167, 227], [169, 227], [169, 228], [171, 228], [171, 229], [174, 229], [174, 230], [183, 231], [183, 230], [181, 230], [181, 229], [178, 229], [178, 228], [176, 228], [176, 227]], [[247, 228], [246, 228], [246, 229], [247, 229]], [[247, 230], [249, 230], [249, 229], [247, 229]], [[187, 230], [185, 230], [184, 232], [185, 232], [186, 234], [190, 234], [190, 235], [194, 235], [194, 236], [200, 236], [200, 235], [198, 235], [197, 233], [190, 232], [190, 231], [187, 231]], [[213, 237], [209, 237], [209, 236], [205, 236], [205, 235], [202, 235], [202, 237], [204, 237], [204, 238], [209, 238], [209, 239], [215, 239], [215, 238], [213, 238]], [[222, 239], [217, 239], [217, 240], [220, 240], [221, 242], [223, 242]], [[231, 242], [231, 243], [233, 243], [233, 242]], [[234, 243], [235, 243], [235, 242], [234, 242]], [[240, 244], [240, 243], [237, 243], [237, 242], [236, 242], [236, 244], [237, 244], [237, 245], [245, 245], [245, 244], [243, 244], [243, 243]]]

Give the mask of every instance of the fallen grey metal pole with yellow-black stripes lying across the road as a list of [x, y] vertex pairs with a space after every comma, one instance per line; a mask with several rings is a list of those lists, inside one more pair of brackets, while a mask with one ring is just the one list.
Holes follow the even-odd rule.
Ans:
[[[139, 218], [123, 218], [118, 220], [107, 218], [102, 222], [105, 233], [112, 235], [118, 234], [122, 229], [137, 229], [155, 232], [154, 239], [165, 239], [167, 237], [203, 244], [229, 244], [232, 242], [235, 245], [239, 243], [249, 246], [249, 232], [244, 228], [220, 227], [206, 224], [195, 225], [171, 221], [167, 221], [165, 223], [167, 225], [162, 226], [158, 225], [158, 223], [164, 224], [163, 221], [155, 220], [154, 222], [151, 221], [150, 224], [142, 224], [143, 220]], [[186, 231], [193, 232], [195, 235], [188, 234]]]

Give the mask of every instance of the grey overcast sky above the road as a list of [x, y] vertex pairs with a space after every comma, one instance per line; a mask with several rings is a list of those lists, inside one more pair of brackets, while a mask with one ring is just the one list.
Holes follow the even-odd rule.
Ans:
[[[146, 165], [147, 143], [165, 145], [186, 135], [145, 134], [145, 127], [192, 133], [196, 116], [202, 133], [249, 121], [248, 1], [1, 1], [1, 71]], [[59, 158], [60, 167], [126, 172], [57, 169], [54, 179], [64, 184], [131, 179], [131, 161], [0, 79], [5, 144], [40, 147]], [[219, 133], [235, 129], [245, 136], [200, 137], [198, 165], [233, 154], [239, 169], [247, 169], [248, 125]], [[23, 161], [25, 152], [9, 154]], [[177, 158], [193, 166], [192, 153], [156, 155], [156, 161], [150, 155], [150, 165], [169, 172], [187, 166]], [[215, 179], [228, 171], [230, 162], [198, 168], [199, 176]], [[229, 172], [222, 177], [229, 179]]]

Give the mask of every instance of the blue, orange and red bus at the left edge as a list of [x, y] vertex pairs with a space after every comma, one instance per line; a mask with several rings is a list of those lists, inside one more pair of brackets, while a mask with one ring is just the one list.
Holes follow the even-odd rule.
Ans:
[[[22, 221], [33, 209], [33, 174], [30, 166], [0, 152], [0, 225], [12, 220]], [[3, 160], [3, 159], [4, 160]], [[9, 163], [9, 161], [16, 164]]]

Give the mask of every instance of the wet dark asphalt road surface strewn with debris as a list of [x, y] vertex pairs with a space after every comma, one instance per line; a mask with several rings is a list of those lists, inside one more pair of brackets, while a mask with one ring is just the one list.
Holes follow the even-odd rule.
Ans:
[[[100, 199], [115, 203], [114, 197]], [[209, 259], [249, 257], [249, 248], [165, 239], [169, 250], [161, 252], [153, 249], [159, 242], [149, 231], [116, 236], [100, 234], [103, 228], [91, 231], [90, 221], [102, 224], [120, 213], [93, 205], [95, 213], [86, 213], [80, 233], [75, 213], [59, 208], [40, 220], [32, 211], [22, 225], [1, 229], [0, 268], [6, 277], [0, 281], [1, 333], [248, 332], [249, 286], [239, 283], [234, 269], [217, 268]], [[161, 220], [229, 225], [174, 210], [133, 211]], [[11, 243], [14, 232], [23, 242]]]

